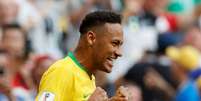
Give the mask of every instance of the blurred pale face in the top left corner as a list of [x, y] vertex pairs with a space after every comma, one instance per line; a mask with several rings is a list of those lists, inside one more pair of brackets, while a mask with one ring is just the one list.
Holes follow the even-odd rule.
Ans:
[[18, 10], [17, 0], [0, 0], [0, 25], [14, 22]]

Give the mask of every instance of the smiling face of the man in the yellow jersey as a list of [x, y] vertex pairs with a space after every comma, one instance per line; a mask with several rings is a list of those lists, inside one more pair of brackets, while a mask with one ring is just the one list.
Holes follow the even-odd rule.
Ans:
[[93, 63], [96, 69], [111, 72], [113, 62], [121, 56], [123, 30], [120, 24], [106, 23], [95, 31], [93, 48]]

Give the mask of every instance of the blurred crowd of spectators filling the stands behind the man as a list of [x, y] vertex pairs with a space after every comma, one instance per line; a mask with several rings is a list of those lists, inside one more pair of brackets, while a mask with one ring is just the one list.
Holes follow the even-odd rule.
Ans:
[[122, 14], [124, 30], [123, 56], [97, 86], [127, 86], [130, 101], [200, 101], [201, 0], [0, 0], [0, 101], [34, 101], [96, 10]]

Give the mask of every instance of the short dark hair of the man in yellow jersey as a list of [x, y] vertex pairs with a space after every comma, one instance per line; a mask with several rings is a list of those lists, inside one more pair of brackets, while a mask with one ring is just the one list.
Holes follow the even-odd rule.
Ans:
[[121, 24], [121, 15], [112, 11], [95, 11], [87, 14], [80, 25], [81, 35], [89, 31], [91, 27], [104, 25], [105, 23]]

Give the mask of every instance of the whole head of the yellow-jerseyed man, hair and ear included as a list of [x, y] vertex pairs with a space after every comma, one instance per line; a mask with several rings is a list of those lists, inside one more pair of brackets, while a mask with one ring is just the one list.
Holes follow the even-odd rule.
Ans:
[[123, 44], [120, 15], [110, 11], [90, 13], [82, 21], [80, 33], [90, 52], [93, 68], [111, 72], [113, 61], [121, 56]]

